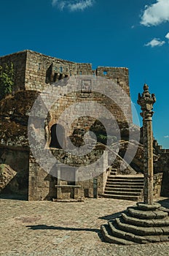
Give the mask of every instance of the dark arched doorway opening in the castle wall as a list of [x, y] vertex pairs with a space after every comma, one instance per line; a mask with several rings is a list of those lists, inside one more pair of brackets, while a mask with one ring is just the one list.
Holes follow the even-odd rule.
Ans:
[[[65, 130], [60, 124], [53, 124], [50, 129], [51, 134], [51, 148], [64, 148], [65, 146]], [[60, 142], [59, 142], [59, 141]]]

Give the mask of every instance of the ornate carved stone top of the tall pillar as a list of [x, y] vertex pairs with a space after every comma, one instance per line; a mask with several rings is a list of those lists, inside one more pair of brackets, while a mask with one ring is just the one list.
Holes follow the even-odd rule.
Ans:
[[144, 92], [142, 94], [138, 94], [138, 105], [141, 105], [141, 116], [146, 120], [152, 120], [153, 115], [153, 105], [156, 102], [156, 98], [154, 94], [149, 93], [149, 86], [144, 84]]

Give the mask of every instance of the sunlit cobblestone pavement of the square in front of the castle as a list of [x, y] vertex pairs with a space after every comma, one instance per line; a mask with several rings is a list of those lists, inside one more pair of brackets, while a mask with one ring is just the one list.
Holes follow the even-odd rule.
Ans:
[[[160, 198], [169, 208], [169, 200]], [[159, 256], [169, 243], [121, 246], [102, 241], [100, 227], [135, 203], [107, 198], [84, 203], [0, 199], [0, 255]]]

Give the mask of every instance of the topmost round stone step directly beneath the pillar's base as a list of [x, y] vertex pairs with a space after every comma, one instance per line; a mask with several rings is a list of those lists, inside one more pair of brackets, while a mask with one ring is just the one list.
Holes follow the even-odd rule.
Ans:
[[141, 211], [138, 210], [137, 207], [130, 207], [127, 208], [128, 213], [131, 217], [135, 217], [138, 219], [164, 219], [168, 217], [168, 212], [165, 211]]

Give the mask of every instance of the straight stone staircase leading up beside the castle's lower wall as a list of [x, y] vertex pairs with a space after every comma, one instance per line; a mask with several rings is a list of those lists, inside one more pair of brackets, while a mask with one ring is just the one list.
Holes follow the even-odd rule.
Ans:
[[144, 176], [116, 175], [113, 169], [106, 181], [103, 197], [117, 198], [122, 200], [141, 200], [144, 189]]

